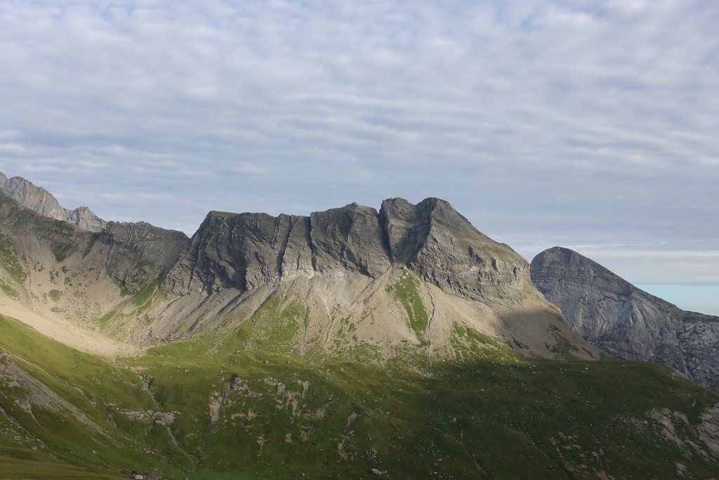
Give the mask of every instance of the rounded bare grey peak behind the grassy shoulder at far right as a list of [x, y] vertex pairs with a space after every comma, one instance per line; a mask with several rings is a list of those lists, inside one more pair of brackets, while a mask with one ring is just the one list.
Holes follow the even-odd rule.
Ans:
[[567, 248], [536, 255], [531, 279], [576, 332], [610, 355], [661, 363], [719, 389], [719, 317], [684, 312]]

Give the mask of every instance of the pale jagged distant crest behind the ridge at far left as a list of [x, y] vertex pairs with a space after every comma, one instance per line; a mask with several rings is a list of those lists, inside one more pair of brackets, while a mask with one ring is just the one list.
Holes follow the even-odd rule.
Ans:
[[35, 186], [32, 182], [22, 177], [7, 178], [3, 173], [0, 173], [0, 190], [23, 207], [34, 210], [43, 217], [68, 222], [81, 230], [99, 232], [107, 223], [96, 214], [93, 214], [88, 207], [78, 207], [74, 210], [61, 207], [58, 199], [52, 196], [49, 191]]

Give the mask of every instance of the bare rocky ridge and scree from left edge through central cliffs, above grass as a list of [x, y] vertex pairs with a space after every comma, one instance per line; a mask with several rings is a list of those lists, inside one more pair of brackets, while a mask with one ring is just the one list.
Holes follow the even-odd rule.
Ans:
[[144, 222], [95, 233], [53, 222], [0, 204], [22, 271], [0, 274], [14, 301], [133, 345], [231, 331], [273, 305], [296, 312], [275, 327], [309, 356], [454, 358], [477, 343], [458, 333], [467, 328], [526, 356], [597, 355], [536, 291], [520, 255], [439, 199], [308, 217], [210, 212], [190, 240]]

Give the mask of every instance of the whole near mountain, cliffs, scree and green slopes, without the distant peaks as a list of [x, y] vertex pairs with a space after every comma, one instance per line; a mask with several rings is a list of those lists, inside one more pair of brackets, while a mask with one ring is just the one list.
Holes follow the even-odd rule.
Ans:
[[709, 478], [718, 426], [440, 199], [188, 238], [0, 192], [0, 478]]

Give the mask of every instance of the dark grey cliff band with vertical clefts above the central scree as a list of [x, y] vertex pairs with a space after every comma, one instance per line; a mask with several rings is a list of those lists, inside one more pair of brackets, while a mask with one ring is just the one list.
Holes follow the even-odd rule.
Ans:
[[406, 266], [443, 291], [493, 302], [530, 285], [527, 262], [482, 235], [444, 200], [383, 201], [309, 217], [210, 212], [168, 273], [178, 295], [248, 291], [296, 276], [349, 271], [376, 279]]

